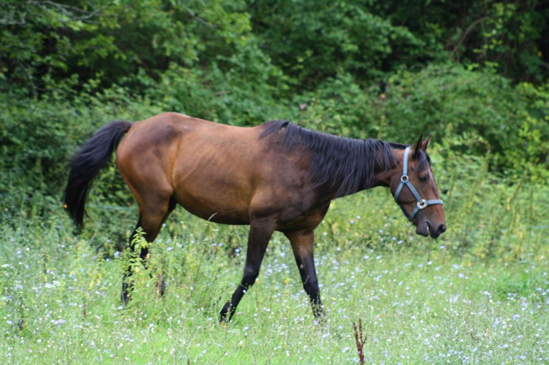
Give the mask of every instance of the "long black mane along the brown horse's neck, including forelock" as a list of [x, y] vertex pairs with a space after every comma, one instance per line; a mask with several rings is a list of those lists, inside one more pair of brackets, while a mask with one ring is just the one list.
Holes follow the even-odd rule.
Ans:
[[[375, 164], [389, 170], [397, 163], [392, 149], [406, 149], [406, 144], [388, 143], [368, 138], [358, 140], [305, 129], [288, 121], [270, 121], [259, 138], [283, 131], [283, 147], [311, 151], [309, 178], [316, 186], [340, 184], [336, 197], [373, 187]], [[423, 152], [423, 151], [422, 151]], [[418, 168], [430, 164], [427, 153], [419, 153]]]

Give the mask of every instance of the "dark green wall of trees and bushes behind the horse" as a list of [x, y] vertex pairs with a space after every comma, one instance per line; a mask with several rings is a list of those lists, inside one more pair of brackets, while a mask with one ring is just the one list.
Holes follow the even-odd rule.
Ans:
[[[405, 143], [432, 133], [441, 158], [543, 184], [548, 76], [544, 0], [0, 0], [3, 210], [58, 204], [78, 144], [161, 111]], [[112, 197], [122, 183], [107, 175], [97, 191]]]

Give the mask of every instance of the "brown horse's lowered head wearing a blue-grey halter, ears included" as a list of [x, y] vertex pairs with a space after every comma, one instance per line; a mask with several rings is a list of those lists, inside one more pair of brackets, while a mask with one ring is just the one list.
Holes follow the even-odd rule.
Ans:
[[432, 238], [446, 230], [444, 208], [426, 153], [431, 136], [423, 135], [412, 147], [397, 151], [398, 166], [390, 179], [390, 190], [404, 216], [416, 226], [416, 233]]

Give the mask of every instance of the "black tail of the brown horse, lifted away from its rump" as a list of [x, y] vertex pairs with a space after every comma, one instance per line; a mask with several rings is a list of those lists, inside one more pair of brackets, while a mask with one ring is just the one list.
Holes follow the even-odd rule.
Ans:
[[110, 160], [121, 138], [131, 126], [126, 121], [108, 123], [84, 143], [69, 162], [70, 172], [63, 196], [63, 207], [77, 227], [83, 225], [86, 214], [84, 205], [93, 179]]

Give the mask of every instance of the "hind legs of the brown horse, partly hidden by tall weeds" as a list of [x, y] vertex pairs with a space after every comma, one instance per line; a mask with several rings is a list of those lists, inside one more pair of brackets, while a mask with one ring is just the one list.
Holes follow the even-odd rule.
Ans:
[[[176, 207], [176, 202], [172, 197], [168, 199], [156, 197], [156, 199], [148, 199], [145, 201], [148, 201], [148, 203], [139, 204], [139, 220], [137, 221], [137, 225], [134, 231], [130, 235], [130, 242], [128, 244], [128, 247], [132, 252], [135, 252], [139, 248], [140, 242], [137, 238], [139, 236], [139, 228], [141, 228], [143, 230], [143, 238], [145, 238], [145, 241], [148, 242], [148, 244], [144, 247], [141, 247], [139, 257], [141, 257], [141, 262], [146, 269], [150, 243], [154, 241], [156, 236], [158, 236], [163, 223], [166, 221], [167, 217], [170, 216], [170, 213], [174, 211]], [[126, 305], [128, 301], [130, 301], [130, 293], [132, 291], [133, 285], [131, 282], [128, 282], [127, 278], [131, 277], [132, 275], [133, 267], [132, 264], [129, 264], [128, 269], [126, 270], [126, 273], [124, 274], [124, 277], [122, 279], [121, 301], [124, 305]], [[160, 294], [163, 296], [165, 290], [165, 283], [163, 280], [159, 284], [159, 287]]]

